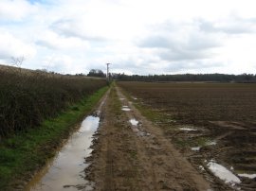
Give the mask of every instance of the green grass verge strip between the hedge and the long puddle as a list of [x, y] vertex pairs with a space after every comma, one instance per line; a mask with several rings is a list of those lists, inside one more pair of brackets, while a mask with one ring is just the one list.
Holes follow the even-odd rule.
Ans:
[[46, 120], [40, 128], [21, 132], [0, 142], [0, 190], [15, 190], [53, 157], [56, 148], [74, 130], [85, 114], [92, 111], [108, 87], [84, 97], [58, 117]]

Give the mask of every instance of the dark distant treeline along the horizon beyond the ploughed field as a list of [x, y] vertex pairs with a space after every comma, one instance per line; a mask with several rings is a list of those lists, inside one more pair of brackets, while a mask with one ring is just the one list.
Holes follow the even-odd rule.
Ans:
[[120, 81], [219, 81], [219, 82], [256, 82], [256, 75], [226, 75], [226, 74], [180, 74], [180, 75], [148, 75], [128, 76], [112, 74], [112, 78]]

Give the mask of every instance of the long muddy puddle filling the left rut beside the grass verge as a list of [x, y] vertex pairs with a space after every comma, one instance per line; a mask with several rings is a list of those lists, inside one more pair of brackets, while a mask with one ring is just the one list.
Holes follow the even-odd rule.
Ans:
[[[87, 116], [79, 130], [74, 132], [57, 156], [39, 172], [25, 190], [78, 190], [87, 186], [84, 180], [84, 158], [91, 153], [92, 136], [99, 127], [100, 118]], [[88, 188], [88, 189], [87, 189]]]

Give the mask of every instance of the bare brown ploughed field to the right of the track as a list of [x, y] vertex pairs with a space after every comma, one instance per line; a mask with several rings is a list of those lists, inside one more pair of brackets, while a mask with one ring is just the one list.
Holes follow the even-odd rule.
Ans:
[[256, 174], [256, 84], [118, 84], [214, 190], [227, 188], [210, 171], [212, 160], [239, 177], [230, 189], [256, 190], [256, 178], [241, 175]]

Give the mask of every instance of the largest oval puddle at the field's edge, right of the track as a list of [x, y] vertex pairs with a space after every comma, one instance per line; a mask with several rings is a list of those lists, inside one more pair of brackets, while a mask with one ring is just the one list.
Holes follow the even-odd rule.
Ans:
[[231, 185], [235, 185], [236, 183], [240, 183], [240, 179], [235, 176], [228, 168], [223, 165], [219, 165], [214, 161], [210, 161], [208, 163], [208, 167], [210, 171], [218, 178], [223, 180], [226, 183], [230, 183]]

